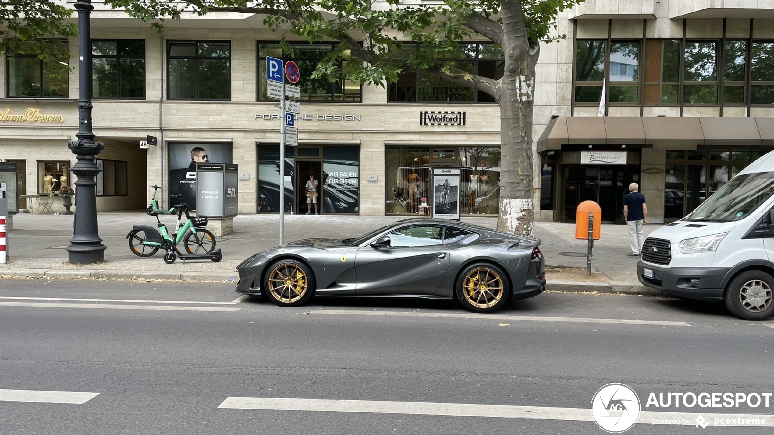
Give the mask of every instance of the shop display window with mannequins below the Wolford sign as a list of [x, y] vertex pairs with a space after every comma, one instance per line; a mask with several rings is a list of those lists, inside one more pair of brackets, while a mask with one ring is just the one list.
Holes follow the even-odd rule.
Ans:
[[432, 206], [431, 168], [446, 166], [461, 168], [462, 214], [496, 215], [500, 200], [500, 156], [498, 147], [388, 147], [385, 212], [419, 212], [422, 199]]

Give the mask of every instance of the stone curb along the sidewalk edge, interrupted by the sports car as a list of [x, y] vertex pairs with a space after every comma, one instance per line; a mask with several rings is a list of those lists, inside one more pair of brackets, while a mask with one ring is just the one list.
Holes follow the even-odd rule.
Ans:
[[[235, 284], [238, 274], [226, 272], [135, 272], [134, 270], [62, 270], [62, 269], [0, 269], [0, 277], [14, 278], [70, 278], [102, 280], [180, 280], [187, 282], [227, 282]], [[231, 281], [228, 279], [231, 278]], [[662, 291], [631, 283], [585, 283], [549, 280], [546, 291], [560, 293], [628, 294], [632, 296], [667, 296]]]

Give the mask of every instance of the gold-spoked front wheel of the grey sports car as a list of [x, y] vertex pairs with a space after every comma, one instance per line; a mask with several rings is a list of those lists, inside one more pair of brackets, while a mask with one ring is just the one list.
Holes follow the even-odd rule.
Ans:
[[304, 304], [317, 289], [310, 267], [289, 259], [272, 263], [266, 269], [262, 284], [261, 294], [280, 307]]

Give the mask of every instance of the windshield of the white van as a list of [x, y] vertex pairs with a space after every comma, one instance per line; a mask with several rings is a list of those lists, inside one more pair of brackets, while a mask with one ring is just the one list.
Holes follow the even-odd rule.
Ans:
[[737, 175], [702, 202], [685, 220], [732, 222], [744, 219], [772, 195], [774, 172]]

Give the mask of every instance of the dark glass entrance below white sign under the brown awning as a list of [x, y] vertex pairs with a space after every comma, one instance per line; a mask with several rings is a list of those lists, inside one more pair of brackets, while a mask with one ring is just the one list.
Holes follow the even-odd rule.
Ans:
[[624, 195], [634, 169], [627, 165], [565, 165], [564, 222], [574, 223], [578, 204], [597, 202], [602, 222], [624, 223]]

